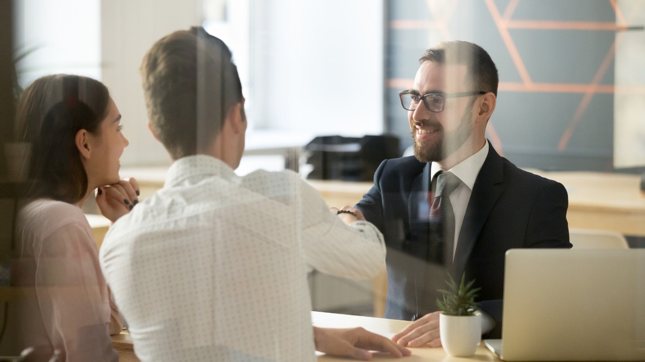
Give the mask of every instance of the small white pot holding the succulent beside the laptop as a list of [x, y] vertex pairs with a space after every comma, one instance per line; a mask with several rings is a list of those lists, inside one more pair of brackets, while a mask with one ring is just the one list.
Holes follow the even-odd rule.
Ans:
[[441, 345], [450, 356], [469, 357], [475, 354], [482, 339], [482, 316], [439, 315]]

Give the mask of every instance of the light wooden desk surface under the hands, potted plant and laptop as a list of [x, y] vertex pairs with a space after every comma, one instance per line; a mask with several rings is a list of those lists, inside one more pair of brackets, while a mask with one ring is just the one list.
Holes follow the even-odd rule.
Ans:
[[[351, 328], [363, 327], [370, 332], [378, 334], [393, 334], [402, 330], [409, 321], [397, 321], [394, 319], [361, 317], [361, 316], [348, 316], [346, 314], [334, 314], [323, 312], [312, 312], [312, 323], [315, 327], [326, 328]], [[134, 354], [132, 348], [132, 338], [128, 332], [123, 332], [118, 336], [112, 336], [112, 347], [119, 352], [119, 361], [136, 362], [139, 361]], [[442, 362], [466, 362], [466, 361], [500, 361], [495, 354], [491, 353], [488, 348], [484, 347], [482, 343], [475, 356], [470, 358], [451, 357], [447, 356], [443, 348], [410, 348], [412, 356], [404, 357], [402, 359], [390, 357], [388, 354], [378, 354], [373, 360], [377, 361], [399, 361], [399, 362], [418, 362], [418, 361], [442, 361]], [[313, 352], [313, 351], [312, 351]], [[348, 358], [339, 358], [326, 356], [324, 354], [318, 355], [319, 362], [331, 361], [348, 361]]]

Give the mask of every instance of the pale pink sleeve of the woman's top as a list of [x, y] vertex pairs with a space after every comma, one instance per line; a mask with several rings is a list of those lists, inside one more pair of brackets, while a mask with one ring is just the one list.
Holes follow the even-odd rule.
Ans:
[[113, 309], [86, 225], [55, 230], [35, 250], [35, 258], [39, 308], [53, 347], [64, 352], [66, 361], [117, 361], [108, 334]]

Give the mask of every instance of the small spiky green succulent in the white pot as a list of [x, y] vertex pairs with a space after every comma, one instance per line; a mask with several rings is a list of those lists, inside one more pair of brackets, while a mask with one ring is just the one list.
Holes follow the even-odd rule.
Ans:
[[446, 316], [472, 316], [479, 305], [475, 302], [475, 297], [477, 297], [477, 292], [481, 288], [474, 288], [473, 284], [475, 280], [471, 280], [466, 283], [466, 272], [461, 275], [461, 282], [457, 285], [457, 282], [453, 280], [452, 276], [448, 275], [448, 290], [437, 289], [438, 292], [443, 294], [443, 300], [437, 298], [437, 307]]

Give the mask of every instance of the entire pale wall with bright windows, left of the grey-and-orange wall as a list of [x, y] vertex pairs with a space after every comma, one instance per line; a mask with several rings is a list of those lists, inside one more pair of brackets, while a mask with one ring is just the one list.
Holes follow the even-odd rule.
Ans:
[[[170, 164], [146, 125], [141, 59], [157, 39], [202, 24], [223, 1], [17, 3], [17, 44], [37, 47], [20, 64], [23, 84], [59, 72], [100, 79], [110, 88], [130, 140], [121, 164]], [[275, 131], [290, 140], [284, 146], [303, 145], [315, 135], [382, 133], [383, 0], [228, 0], [226, 9], [234, 24], [210, 24], [221, 30], [215, 35], [230, 43], [240, 67], [249, 138], [262, 140], [248, 148], [264, 148]], [[248, 13], [246, 22], [240, 12]]]

